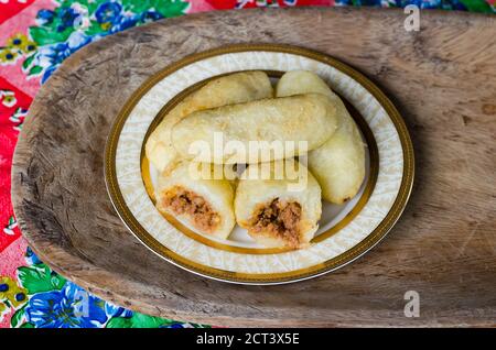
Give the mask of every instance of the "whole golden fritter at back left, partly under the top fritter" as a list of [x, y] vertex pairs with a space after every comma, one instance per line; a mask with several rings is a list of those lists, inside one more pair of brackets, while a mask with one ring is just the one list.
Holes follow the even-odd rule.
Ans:
[[194, 111], [272, 96], [270, 79], [263, 72], [235, 73], [208, 81], [165, 116], [147, 141], [147, 157], [161, 172], [177, 160], [172, 146], [172, 127]]

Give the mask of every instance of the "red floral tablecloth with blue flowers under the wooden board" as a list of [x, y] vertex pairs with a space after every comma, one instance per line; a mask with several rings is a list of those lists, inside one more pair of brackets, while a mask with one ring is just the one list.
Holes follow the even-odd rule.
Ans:
[[376, 6], [494, 13], [496, 0], [0, 0], [0, 327], [205, 327], [118, 307], [53, 272], [22, 239], [12, 153], [40, 86], [79, 47], [163, 18], [254, 7]]

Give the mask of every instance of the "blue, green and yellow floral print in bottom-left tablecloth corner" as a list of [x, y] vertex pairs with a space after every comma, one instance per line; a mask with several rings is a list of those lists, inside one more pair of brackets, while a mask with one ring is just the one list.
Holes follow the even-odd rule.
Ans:
[[[205, 327], [195, 324], [183, 324], [161, 317], [133, 313], [115, 306], [90, 294], [65, 280], [42, 263], [28, 249], [26, 265], [17, 270], [17, 281], [10, 277], [0, 280], [0, 314], [11, 309], [11, 327], [107, 327], [107, 328], [184, 328]], [[74, 293], [76, 292], [76, 293]], [[15, 300], [20, 293], [25, 299]], [[83, 293], [83, 294], [82, 294]], [[85, 300], [78, 295], [88, 295], [89, 315], [79, 321], [76, 311]]]

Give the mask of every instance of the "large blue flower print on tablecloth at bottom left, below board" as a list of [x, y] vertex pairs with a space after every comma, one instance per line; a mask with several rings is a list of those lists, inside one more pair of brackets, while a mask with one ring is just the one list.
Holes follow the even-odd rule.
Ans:
[[25, 316], [36, 328], [97, 328], [107, 321], [104, 304], [67, 282], [61, 291], [33, 295]]

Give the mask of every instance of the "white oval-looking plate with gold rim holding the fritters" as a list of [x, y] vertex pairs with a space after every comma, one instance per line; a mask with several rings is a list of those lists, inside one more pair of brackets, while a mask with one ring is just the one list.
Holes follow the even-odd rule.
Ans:
[[[219, 75], [260, 69], [273, 79], [288, 70], [321, 76], [347, 103], [366, 152], [366, 179], [343, 206], [324, 203], [311, 247], [265, 249], [239, 227], [216, 240], [163, 217], [153, 205], [157, 171], [144, 157], [150, 132], [185, 96]], [[338, 269], [377, 244], [399, 218], [413, 182], [413, 152], [405, 123], [367, 78], [326, 55], [285, 45], [236, 45], [165, 67], [126, 103], [106, 149], [110, 198], [126, 226], [160, 256], [191, 272], [234, 283], [278, 284]]]

